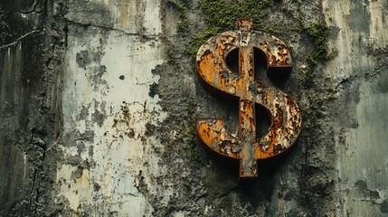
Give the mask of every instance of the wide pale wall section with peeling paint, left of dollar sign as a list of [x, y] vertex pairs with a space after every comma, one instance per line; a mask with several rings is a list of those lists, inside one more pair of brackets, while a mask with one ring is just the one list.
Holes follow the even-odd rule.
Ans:
[[[81, 8], [77, 4], [69, 6]], [[156, 154], [164, 146], [147, 134], [147, 126], [159, 126], [167, 116], [158, 95], [149, 93], [160, 79], [153, 70], [166, 61], [160, 2], [97, 1], [88, 7], [112, 19], [100, 24], [106, 19], [88, 20], [89, 13], [66, 15], [69, 44], [62, 64], [58, 144], [63, 161], [57, 165], [56, 198], [78, 213], [151, 215], [154, 209], [139, 183], [159, 194], [161, 204], [173, 193], [156, 182], [168, 171]], [[83, 22], [90, 26], [85, 29]]]

